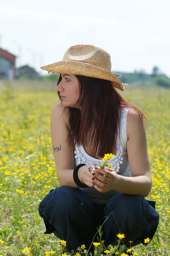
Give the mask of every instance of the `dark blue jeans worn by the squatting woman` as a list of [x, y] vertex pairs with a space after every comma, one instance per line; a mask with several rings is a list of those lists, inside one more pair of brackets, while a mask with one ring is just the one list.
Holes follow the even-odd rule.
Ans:
[[[133, 241], [132, 246], [144, 244], [144, 239], [153, 238], [159, 223], [155, 202], [141, 195], [117, 193], [107, 204], [99, 205], [94, 204], [86, 192], [69, 186], [52, 189], [40, 202], [38, 209], [44, 219], [44, 233], [54, 233], [59, 239], [65, 240], [68, 251], [76, 250], [82, 244], [88, 249], [97, 228], [111, 212], [103, 225], [102, 239], [106, 246], [118, 243], [118, 233], [125, 234], [123, 241], [127, 247], [130, 240]], [[97, 241], [97, 237], [94, 241]]]

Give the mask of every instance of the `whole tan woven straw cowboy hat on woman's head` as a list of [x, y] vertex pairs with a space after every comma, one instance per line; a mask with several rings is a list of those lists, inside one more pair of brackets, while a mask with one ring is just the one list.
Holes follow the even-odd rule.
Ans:
[[[111, 73], [111, 56], [100, 47], [77, 44], [68, 48], [62, 61], [41, 67], [48, 73], [90, 76], [111, 81], [113, 87], [124, 90], [124, 84]], [[121, 74], [120, 74], [121, 75]], [[122, 76], [122, 75], [121, 75]]]

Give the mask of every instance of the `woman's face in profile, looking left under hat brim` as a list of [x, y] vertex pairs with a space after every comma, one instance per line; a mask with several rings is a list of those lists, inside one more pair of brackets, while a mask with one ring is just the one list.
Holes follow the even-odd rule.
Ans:
[[56, 87], [62, 100], [62, 105], [65, 107], [79, 108], [76, 104], [79, 99], [79, 81], [75, 75], [61, 74], [62, 80]]

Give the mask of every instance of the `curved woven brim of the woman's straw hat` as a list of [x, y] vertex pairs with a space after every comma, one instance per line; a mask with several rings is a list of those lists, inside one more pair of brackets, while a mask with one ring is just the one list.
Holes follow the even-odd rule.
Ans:
[[79, 61], [58, 61], [53, 64], [42, 66], [41, 69], [51, 73], [73, 74], [105, 79], [111, 81], [113, 87], [122, 91], [124, 91], [125, 88], [117, 76], [101, 67], [88, 63]]

